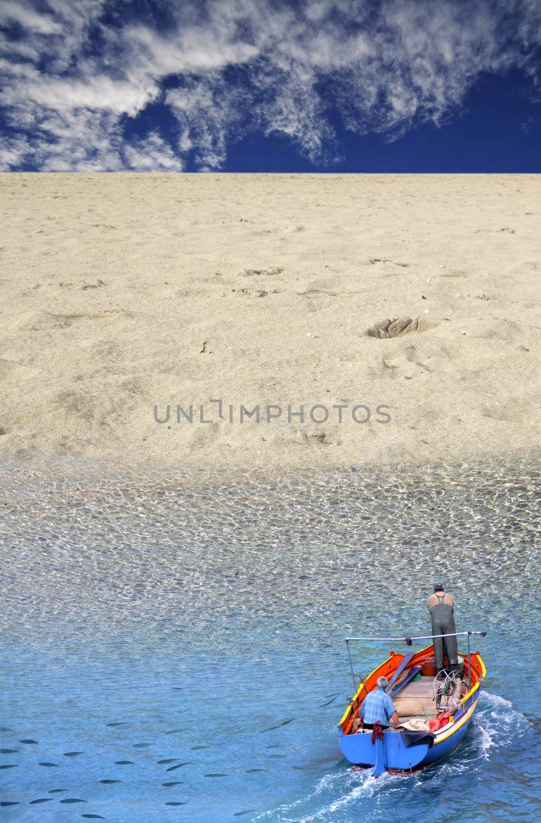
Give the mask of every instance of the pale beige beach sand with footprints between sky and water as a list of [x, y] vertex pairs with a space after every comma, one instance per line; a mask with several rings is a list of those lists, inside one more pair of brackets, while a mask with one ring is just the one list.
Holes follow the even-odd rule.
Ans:
[[[0, 458], [267, 470], [532, 453], [539, 184], [2, 174]], [[394, 319], [409, 333], [367, 334]]]

